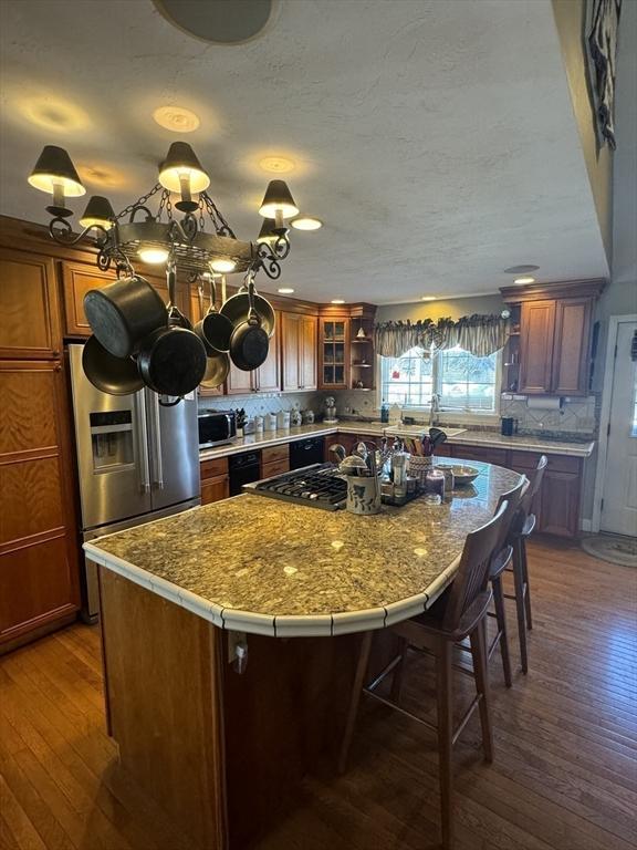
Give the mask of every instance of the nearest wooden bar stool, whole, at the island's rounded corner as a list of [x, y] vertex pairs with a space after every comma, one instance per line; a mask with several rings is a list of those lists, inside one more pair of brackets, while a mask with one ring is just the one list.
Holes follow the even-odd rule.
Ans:
[[[354, 677], [345, 734], [338, 760], [341, 773], [344, 773], [347, 766], [347, 757], [354, 736], [356, 715], [358, 713], [361, 695], [363, 693], [391, 708], [396, 708], [401, 714], [405, 714], [437, 732], [440, 764], [442, 846], [445, 850], [450, 850], [453, 842], [453, 818], [451, 806], [453, 791], [452, 747], [476, 708], [480, 709], [484, 758], [487, 761], [492, 761], [493, 759], [493, 735], [489, 714], [489, 681], [484, 628], [487, 611], [492, 597], [489, 587], [489, 568], [491, 559], [493, 558], [493, 552], [498, 547], [499, 541], [503, 539], [503, 528], [507, 528], [511, 522], [512, 515], [513, 511], [509, 510], [509, 502], [502, 502], [495, 516], [487, 522], [487, 525], [467, 536], [458, 572], [456, 573], [451, 587], [425, 613], [390, 626], [391, 633], [401, 639], [405, 647], [427, 652], [436, 659], [438, 724], [435, 726], [398, 705], [405, 652], [396, 656], [396, 659], [394, 659], [372, 683], [365, 685], [369, 653], [372, 650], [372, 632], [367, 632], [363, 638]], [[471, 702], [471, 705], [464, 713], [460, 724], [453, 728], [451, 659], [453, 645], [466, 638], [469, 638], [471, 642], [477, 693], [476, 698]], [[384, 696], [375, 693], [375, 691], [390, 672], [398, 675], [398, 682], [395, 680], [393, 683], [393, 698], [386, 699]]]

